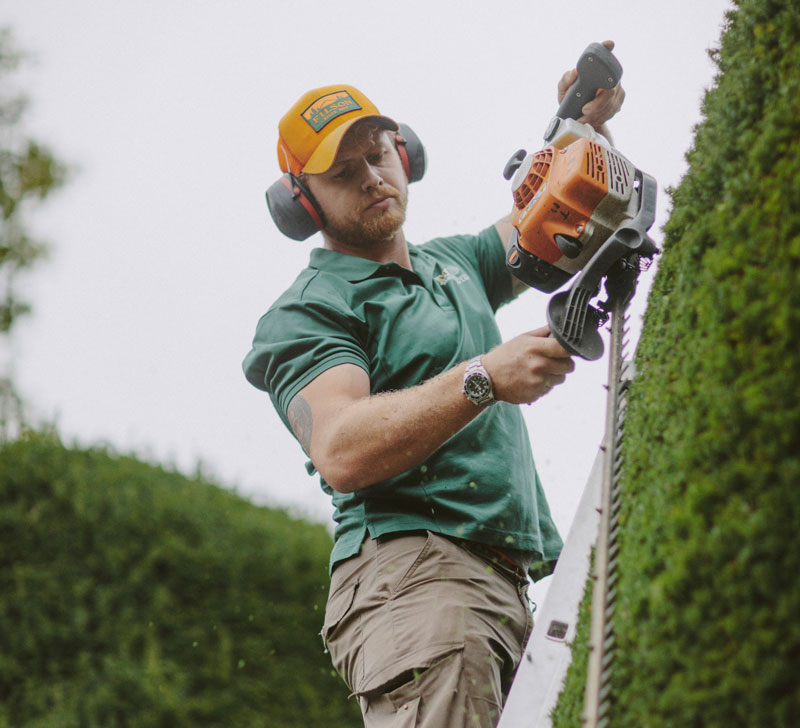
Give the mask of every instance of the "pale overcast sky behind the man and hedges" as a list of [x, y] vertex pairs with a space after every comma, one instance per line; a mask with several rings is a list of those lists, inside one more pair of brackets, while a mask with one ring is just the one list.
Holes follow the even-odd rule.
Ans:
[[[10, 340], [16, 381], [68, 441], [110, 443], [191, 472], [198, 460], [258, 502], [328, 521], [330, 507], [265, 394], [241, 372], [255, 324], [321, 244], [283, 238], [264, 190], [280, 116], [309, 88], [351, 83], [428, 151], [408, 239], [472, 232], [511, 204], [502, 169], [534, 151], [555, 87], [613, 39], [627, 98], [617, 148], [665, 189], [685, 172], [728, 0], [546, 3], [5, 0], [32, 60], [15, 80], [26, 132], [72, 167], [30, 218], [52, 244], [25, 279], [34, 313]], [[637, 336], [652, 272], [632, 306]], [[545, 321], [528, 292], [505, 338]], [[602, 439], [607, 358], [580, 362], [526, 408], [566, 536]]]

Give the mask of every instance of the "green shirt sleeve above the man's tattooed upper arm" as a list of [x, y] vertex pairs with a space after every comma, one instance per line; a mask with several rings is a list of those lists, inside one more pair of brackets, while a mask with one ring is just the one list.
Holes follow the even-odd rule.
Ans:
[[258, 322], [242, 368], [253, 386], [270, 394], [284, 421], [292, 398], [327, 369], [355, 364], [369, 373], [360, 322], [335, 303], [300, 299], [278, 304]]

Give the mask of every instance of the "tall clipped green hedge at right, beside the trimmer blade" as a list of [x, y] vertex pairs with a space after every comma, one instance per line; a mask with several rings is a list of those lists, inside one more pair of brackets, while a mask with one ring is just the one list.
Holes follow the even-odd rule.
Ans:
[[739, 0], [712, 55], [626, 420], [614, 728], [800, 720], [800, 4]]

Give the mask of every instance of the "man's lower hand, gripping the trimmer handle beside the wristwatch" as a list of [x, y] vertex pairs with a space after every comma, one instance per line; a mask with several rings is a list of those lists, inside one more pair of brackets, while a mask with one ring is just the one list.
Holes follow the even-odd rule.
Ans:
[[530, 404], [562, 384], [575, 369], [569, 352], [544, 327], [517, 336], [483, 356], [494, 396], [512, 404]]

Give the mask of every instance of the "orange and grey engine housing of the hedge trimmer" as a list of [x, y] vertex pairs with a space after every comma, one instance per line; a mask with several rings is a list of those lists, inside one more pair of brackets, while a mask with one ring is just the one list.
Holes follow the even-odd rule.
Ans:
[[630, 161], [586, 138], [528, 155], [512, 181], [519, 247], [571, 276], [635, 215], [634, 178]]

